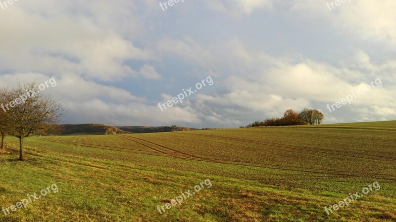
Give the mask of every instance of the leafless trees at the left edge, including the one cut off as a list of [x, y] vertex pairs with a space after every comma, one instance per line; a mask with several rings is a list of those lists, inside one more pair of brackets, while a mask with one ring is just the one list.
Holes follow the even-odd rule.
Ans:
[[1, 149], [5, 149], [5, 137], [19, 138], [19, 160], [25, 160], [23, 141], [32, 133], [56, 128], [63, 109], [51, 96], [38, 93], [38, 84], [18, 84], [13, 89], [0, 89]]

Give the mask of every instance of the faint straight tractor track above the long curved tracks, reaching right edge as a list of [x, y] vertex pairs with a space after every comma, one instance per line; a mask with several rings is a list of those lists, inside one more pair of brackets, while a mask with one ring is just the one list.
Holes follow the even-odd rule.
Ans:
[[[326, 153], [326, 154], [354, 157], [354, 158], [360, 158], [360, 159], [366, 159], [366, 160], [373, 160], [373, 158], [375, 158], [375, 160], [382, 160], [382, 161], [388, 160], [388, 159], [396, 160], [396, 158], [393, 158], [393, 157], [384, 157], [384, 156], [376, 156], [376, 155], [368, 155], [368, 154], [356, 154], [356, 153], [350, 153], [350, 152], [343, 152], [344, 154], [342, 154], [342, 153], [335, 153], [334, 151], [331, 152], [332, 150], [328, 150], [328, 149], [319, 149], [319, 148], [313, 148], [313, 147], [307, 147], [307, 146], [296, 146], [296, 145], [280, 144], [280, 143], [273, 143], [273, 142], [262, 142], [262, 141], [241, 139], [241, 138], [235, 138], [235, 137], [209, 135], [209, 134], [196, 134], [196, 135], [203, 136], [203, 137], [222, 138], [222, 139], [228, 139], [228, 140], [233, 140], [233, 141], [238, 141], [238, 142], [246, 142], [246, 143], [253, 143], [253, 144], [260, 144], [260, 145], [273, 145], [275, 147], [282, 147], [282, 148], [309, 151], [309, 152], [315, 151], [317, 153]], [[330, 152], [325, 152], [325, 151], [330, 151]], [[360, 155], [360, 156], [351, 156], [351, 155], [345, 155], [345, 154]], [[366, 156], [366, 157], [364, 157], [364, 156]], [[368, 157], [371, 157], [371, 158], [368, 158]]]

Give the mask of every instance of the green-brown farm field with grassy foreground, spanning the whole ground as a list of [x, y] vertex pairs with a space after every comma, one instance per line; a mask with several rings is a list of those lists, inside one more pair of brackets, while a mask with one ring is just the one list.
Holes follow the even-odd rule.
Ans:
[[[29, 137], [25, 162], [7, 139], [0, 207], [53, 183], [59, 192], [0, 222], [396, 221], [396, 121]], [[207, 178], [211, 187], [158, 212]], [[379, 190], [326, 214], [376, 181]]]

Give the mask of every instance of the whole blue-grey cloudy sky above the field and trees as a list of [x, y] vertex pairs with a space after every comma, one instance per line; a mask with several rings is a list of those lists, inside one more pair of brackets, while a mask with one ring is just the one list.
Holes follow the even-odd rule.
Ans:
[[343, 1], [0, 0], [0, 87], [54, 78], [63, 124], [396, 120], [396, 1]]

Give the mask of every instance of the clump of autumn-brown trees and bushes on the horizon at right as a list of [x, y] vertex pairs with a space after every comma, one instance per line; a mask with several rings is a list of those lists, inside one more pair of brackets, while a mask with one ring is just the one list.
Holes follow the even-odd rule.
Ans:
[[321, 124], [324, 115], [316, 109], [303, 109], [300, 113], [292, 109], [286, 110], [282, 118], [270, 118], [264, 121], [255, 121], [246, 127], [279, 127], [296, 125]]

